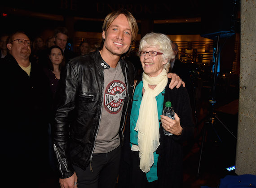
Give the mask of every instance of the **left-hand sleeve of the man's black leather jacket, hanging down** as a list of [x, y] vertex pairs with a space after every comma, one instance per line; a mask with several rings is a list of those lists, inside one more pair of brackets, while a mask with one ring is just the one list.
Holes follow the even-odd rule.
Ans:
[[62, 73], [57, 92], [58, 102], [53, 125], [53, 150], [57, 157], [60, 178], [68, 178], [75, 172], [69, 158], [69, 122], [72, 121], [71, 112], [75, 109], [79, 82], [77, 72], [71, 62], [67, 64]]

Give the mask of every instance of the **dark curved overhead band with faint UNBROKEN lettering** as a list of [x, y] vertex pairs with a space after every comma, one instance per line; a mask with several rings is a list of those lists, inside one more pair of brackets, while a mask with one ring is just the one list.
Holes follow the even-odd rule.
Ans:
[[170, 0], [167, 2], [129, 0], [128, 3], [93, 0], [5, 0], [1, 2], [1, 5], [41, 13], [102, 19], [111, 11], [124, 8], [128, 9], [136, 19], [148, 17], [173, 19], [200, 16], [202, 4], [199, 2], [200, 0]]

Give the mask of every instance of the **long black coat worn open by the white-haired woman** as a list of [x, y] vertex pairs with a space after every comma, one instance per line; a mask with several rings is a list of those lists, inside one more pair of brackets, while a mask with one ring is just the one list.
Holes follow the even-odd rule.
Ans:
[[[170, 83], [168, 80], [168, 85]], [[139, 82], [139, 81], [138, 81]], [[157, 174], [160, 188], [180, 188], [183, 180], [183, 143], [190, 139], [194, 133], [194, 122], [188, 93], [182, 86], [171, 90], [168, 85], [165, 88], [164, 104], [166, 101], [172, 102], [172, 107], [180, 117], [180, 123], [183, 128], [180, 136], [166, 136], [163, 133], [163, 127], [160, 125], [160, 146], [157, 149], [159, 154], [157, 164]], [[132, 106], [132, 105], [131, 105]], [[164, 108], [164, 107], [163, 107]], [[122, 188], [129, 188], [130, 176], [130, 122], [128, 113], [127, 123], [124, 131], [124, 146], [122, 149], [121, 166], [119, 173], [119, 184]]]

